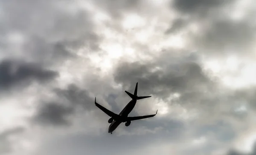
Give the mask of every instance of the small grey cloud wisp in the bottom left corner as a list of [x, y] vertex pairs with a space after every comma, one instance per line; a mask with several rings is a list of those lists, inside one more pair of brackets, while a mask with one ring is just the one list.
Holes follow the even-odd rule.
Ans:
[[9, 153], [12, 151], [12, 143], [9, 141], [9, 136], [17, 135], [24, 131], [22, 127], [15, 127], [0, 133], [0, 154]]

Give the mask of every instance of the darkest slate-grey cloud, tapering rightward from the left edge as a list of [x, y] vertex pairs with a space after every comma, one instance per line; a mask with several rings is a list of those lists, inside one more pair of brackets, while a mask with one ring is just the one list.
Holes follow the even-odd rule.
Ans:
[[58, 73], [42, 68], [37, 63], [4, 60], [0, 62], [0, 87], [1, 89], [19, 85], [20, 82], [46, 82], [55, 78]]

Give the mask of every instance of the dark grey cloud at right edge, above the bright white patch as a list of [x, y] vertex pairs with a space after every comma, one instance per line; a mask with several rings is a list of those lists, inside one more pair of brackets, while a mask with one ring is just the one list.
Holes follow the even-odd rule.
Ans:
[[253, 45], [255, 32], [255, 25], [247, 21], [216, 20], [195, 40], [199, 47], [214, 53], [222, 54], [227, 50], [226, 52], [241, 51], [246, 54]]

